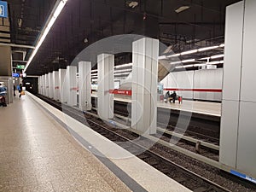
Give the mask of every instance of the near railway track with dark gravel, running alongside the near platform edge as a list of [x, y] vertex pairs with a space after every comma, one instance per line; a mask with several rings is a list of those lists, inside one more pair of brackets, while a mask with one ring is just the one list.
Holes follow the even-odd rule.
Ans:
[[[158, 153], [158, 150], [162, 147], [156, 147], [158, 144], [152, 148], [143, 147], [148, 146], [148, 144], [145, 143], [151, 142], [145, 137], [141, 137], [130, 131], [116, 129], [113, 127], [113, 125], [109, 125], [108, 122], [97, 119], [88, 113], [84, 114], [76, 108], [61, 105], [61, 103], [49, 100], [44, 96], [39, 97], [55, 108], [58, 108], [64, 113], [72, 116], [74, 119], [79, 120], [84, 125], [90, 126], [90, 128], [92, 128], [94, 131], [97, 131], [104, 137], [107, 137], [113, 142], [119, 144], [121, 147], [131, 152], [131, 154], [137, 155], [137, 157], [141, 160], [144, 160], [149, 165], [154, 166], [154, 168], [158, 169], [160, 172], [163, 172], [168, 177], [172, 177], [178, 183], [183, 184], [185, 187], [193, 191], [232, 191], [228, 188], [220, 186], [217, 183], [213, 183], [199, 174], [189, 171], [188, 167], [184, 168], [183, 166], [177, 165], [177, 163], [169, 160], [164, 155], [161, 155]], [[162, 151], [161, 153], [164, 152]], [[181, 159], [183, 159], [183, 157], [181, 157]]]

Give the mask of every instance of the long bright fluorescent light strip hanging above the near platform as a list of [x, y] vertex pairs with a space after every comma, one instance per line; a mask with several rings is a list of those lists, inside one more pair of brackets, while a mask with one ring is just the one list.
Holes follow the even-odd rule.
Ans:
[[67, 0], [60, 0], [59, 4], [57, 5], [57, 8], [55, 10], [53, 10], [54, 11], [53, 14], [51, 14], [49, 16], [49, 19], [48, 19], [49, 22], [44, 26], [44, 29], [41, 33], [41, 37], [39, 37], [38, 43], [37, 43], [35, 49], [32, 51], [32, 55], [30, 56], [29, 60], [27, 61], [26, 67], [24, 69], [24, 73], [26, 72], [27, 67], [29, 67], [29, 65], [31, 64], [34, 56], [37, 54], [38, 49], [43, 44], [44, 39], [46, 38], [47, 34], [49, 33], [49, 30], [51, 29], [51, 27], [54, 25], [55, 20], [61, 14], [61, 10], [64, 8], [66, 3], [67, 3]]

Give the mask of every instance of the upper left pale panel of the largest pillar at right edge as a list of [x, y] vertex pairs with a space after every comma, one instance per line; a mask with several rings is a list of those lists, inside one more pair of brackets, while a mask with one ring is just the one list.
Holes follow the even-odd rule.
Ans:
[[226, 9], [223, 99], [239, 100], [243, 2]]

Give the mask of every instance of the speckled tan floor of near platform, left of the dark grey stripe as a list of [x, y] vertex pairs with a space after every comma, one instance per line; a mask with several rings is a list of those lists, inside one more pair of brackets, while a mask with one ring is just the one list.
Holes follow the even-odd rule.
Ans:
[[130, 191], [29, 96], [0, 108], [0, 191]]

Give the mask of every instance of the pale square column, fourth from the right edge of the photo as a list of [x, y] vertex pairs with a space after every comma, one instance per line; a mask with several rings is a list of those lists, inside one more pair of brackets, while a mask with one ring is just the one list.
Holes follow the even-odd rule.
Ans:
[[91, 110], [91, 62], [79, 62], [79, 108], [83, 111]]

